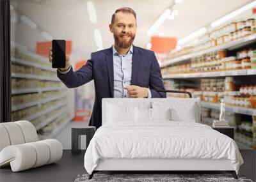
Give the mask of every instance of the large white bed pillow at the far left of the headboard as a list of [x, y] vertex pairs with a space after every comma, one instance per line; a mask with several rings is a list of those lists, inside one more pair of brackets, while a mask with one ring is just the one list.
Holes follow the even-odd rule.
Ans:
[[135, 107], [108, 104], [107, 122], [135, 121]]

